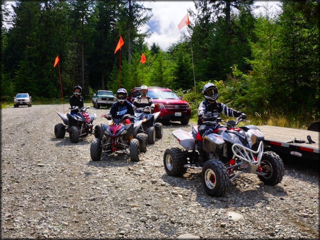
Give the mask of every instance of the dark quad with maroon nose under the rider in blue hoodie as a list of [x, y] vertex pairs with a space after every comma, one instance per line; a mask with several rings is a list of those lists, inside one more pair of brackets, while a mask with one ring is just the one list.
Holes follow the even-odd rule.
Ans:
[[[110, 115], [103, 114], [102, 116], [109, 117]], [[137, 134], [142, 120], [135, 124], [125, 124], [129, 117], [134, 116], [125, 114], [121, 118], [110, 120], [108, 124], [100, 124], [95, 127], [95, 135], [97, 138], [91, 142], [90, 146], [90, 155], [93, 161], [101, 160], [103, 153], [116, 151], [130, 154], [133, 162], [139, 161], [140, 151], [146, 151], [147, 139], [145, 134]], [[133, 136], [136, 136], [136, 138], [133, 138]], [[143, 146], [140, 146], [140, 143]]]

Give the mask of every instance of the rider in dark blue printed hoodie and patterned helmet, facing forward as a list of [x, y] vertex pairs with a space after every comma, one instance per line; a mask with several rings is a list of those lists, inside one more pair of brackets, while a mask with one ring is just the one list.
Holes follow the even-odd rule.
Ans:
[[110, 109], [112, 118], [121, 118], [124, 114], [134, 116], [132, 104], [127, 100], [128, 92], [124, 88], [119, 88], [116, 93], [117, 102]]

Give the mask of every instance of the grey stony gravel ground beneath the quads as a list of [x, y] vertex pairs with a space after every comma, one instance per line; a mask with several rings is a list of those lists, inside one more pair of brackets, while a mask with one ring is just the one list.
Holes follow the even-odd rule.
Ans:
[[[319, 239], [318, 169], [285, 162], [277, 186], [243, 174], [225, 196], [210, 197], [200, 171], [165, 173], [165, 149], [179, 146], [171, 134], [178, 122], [165, 125], [137, 163], [123, 153], [92, 162], [94, 136], [56, 139], [55, 111], [62, 105], [1, 109], [2, 239]], [[96, 125], [109, 110], [88, 111]]]

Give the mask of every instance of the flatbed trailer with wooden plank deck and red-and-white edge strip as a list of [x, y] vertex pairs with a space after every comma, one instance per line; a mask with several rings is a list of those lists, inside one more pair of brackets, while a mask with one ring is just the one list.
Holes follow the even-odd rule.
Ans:
[[[281, 155], [295, 156], [301, 159], [319, 160], [319, 133], [316, 131], [277, 127], [269, 125], [257, 126], [264, 134], [265, 140], [263, 141], [266, 149], [276, 152]], [[294, 137], [297, 140], [307, 140], [310, 135], [315, 143], [287, 143]]]

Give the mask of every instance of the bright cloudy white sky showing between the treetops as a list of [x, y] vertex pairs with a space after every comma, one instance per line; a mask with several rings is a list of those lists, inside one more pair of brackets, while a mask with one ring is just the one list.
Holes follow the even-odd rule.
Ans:
[[[14, 1], [6, 1], [6, 3], [11, 5]], [[167, 50], [169, 46], [179, 42], [183, 34], [189, 35], [188, 27], [179, 31], [178, 24], [187, 14], [188, 9], [196, 11], [193, 1], [141, 1], [141, 3], [147, 8], [152, 8], [153, 16], [145, 26], [139, 29], [141, 32], [147, 30], [152, 32], [151, 36], [145, 39], [149, 46], [156, 43], [162, 50]], [[280, 9], [279, 1], [256, 1], [255, 5], [260, 7], [254, 13], [265, 14], [265, 10], [261, 6], [266, 6], [267, 3], [270, 12], [276, 12]], [[189, 20], [191, 23], [193, 22], [190, 16]]]

